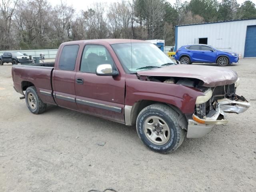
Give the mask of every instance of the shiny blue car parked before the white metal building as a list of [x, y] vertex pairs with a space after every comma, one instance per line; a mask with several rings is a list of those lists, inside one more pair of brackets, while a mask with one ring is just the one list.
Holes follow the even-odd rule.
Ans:
[[190, 44], [176, 50], [174, 56], [180, 64], [216, 63], [218, 66], [237, 63], [239, 56], [236, 53], [218, 50], [205, 44]]

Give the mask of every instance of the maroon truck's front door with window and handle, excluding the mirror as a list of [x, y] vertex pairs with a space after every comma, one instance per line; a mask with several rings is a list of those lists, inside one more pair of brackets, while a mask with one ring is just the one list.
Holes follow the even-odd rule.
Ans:
[[104, 46], [86, 45], [76, 73], [78, 110], [124, 122], [125, 79], [121, 75], [97, 76], [96, 68], [100, 64], [111, 64], [115, 67]]

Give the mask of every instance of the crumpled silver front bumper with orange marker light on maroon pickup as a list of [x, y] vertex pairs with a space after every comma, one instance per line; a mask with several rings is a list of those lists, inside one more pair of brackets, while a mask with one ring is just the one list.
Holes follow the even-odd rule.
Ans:
[[[188, 120], [187, 138], [200, 138], [208, 134], [214, 125], [227, 124], [226, 113], [243, 113], [250, 107], [250, 103], [243, 97], [236, 100], [227, 98], [218, 100], [216, 103], [215, 113], [211, 113], [210, 117], [199, 118], [193, 114], [192, 118]], [[210, 113], [209, 113], [210, 114]]]

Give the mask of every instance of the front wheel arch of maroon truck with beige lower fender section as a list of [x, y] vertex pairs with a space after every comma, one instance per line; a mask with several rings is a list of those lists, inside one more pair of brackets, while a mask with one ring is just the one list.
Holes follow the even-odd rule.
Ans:
[[134, 103], [133, 106], [125, 106], [124, 107], [124, 116], [125, 116], [125, 124], [126, 125], [130, 125], [133, 126], [136, 124], [136, 119], [138, 114], [140, 113], [140, 111], [142, 109], [144, 109], [145, 107], [152, 105], [152, 104], [165, 104], [168, 105], [170, 108], [172, 108], [174, 111], [176, 111], [179, 115], [179, 122], [180, 122], [180, 126], [183, 129], [187, 128], [187, 120], [186, 120], [186, 116], [185, 114], [183, 114], [181, 112], [181, 110], [172, 105], [172, 104], [168, 104], [168, 103], [164, 103], [164, 102], [158, 102], [158, 101], [154, 101], [154, 100], [139, 100], [137, 102]]

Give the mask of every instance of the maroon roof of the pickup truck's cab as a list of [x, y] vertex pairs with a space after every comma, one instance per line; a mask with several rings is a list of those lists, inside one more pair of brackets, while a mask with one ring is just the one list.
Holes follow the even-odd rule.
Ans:
[[150, 43], [147, 41], [143, 40], [135, 40], [135, 39], [93, 39], [93, 40], [79, 40], [79, 41], [68, 41], [64, 42], [63, 44], [74, 44], [74, 43], [87, 43], [87, 42], [92, 42], [92, 43], [99, 43], [99, 42], [104, 42], [108, 44], [119, 44], [119, 43]]

